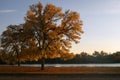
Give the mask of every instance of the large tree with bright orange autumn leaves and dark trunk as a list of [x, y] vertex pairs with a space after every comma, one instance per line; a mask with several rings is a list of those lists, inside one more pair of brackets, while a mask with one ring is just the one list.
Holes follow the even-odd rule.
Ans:
[[[35, 39], [39, 56], [42, 58], [41, 70], [44, 70], [45, 58], [61, 57], [66, 60], [73, 57], [69, 49], [71, 42], [78, 43], [83, 33], [79, 14], [60, 7], [41, 3], [31, 5], [25, 17], [24, 30], [28, 39]], [[37, 57], [38, 59], [40, 57]]]

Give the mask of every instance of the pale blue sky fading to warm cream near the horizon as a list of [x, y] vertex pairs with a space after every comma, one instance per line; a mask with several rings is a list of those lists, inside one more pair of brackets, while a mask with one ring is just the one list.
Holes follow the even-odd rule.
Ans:
[[10, 24], [24, 23], [29, 6], [38, 2], [80, 14], [84, 34], [71, 52], [120, 51], [120, 0], [0, 0], [0, 34]]

